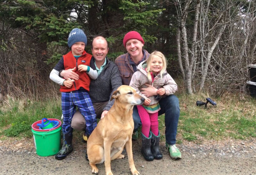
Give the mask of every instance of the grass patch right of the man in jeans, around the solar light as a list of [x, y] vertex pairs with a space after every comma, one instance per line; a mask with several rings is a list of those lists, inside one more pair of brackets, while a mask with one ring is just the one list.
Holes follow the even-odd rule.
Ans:
[[[247, 139], [256, 136], [255, 99], [237, 100], [235, 95], [214, 99], [216, 106], [196, 106], [205, 97], [181, 95], [178, 138], [200, 142], [224, 138]], [[184, 107], [185, 106], [185, 107]]]

